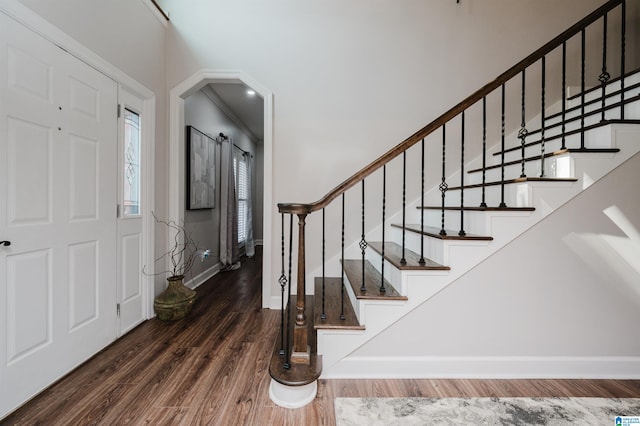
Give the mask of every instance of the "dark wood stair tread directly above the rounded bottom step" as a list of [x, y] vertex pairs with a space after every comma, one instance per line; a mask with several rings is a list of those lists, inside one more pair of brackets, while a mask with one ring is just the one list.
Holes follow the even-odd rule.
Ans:
[[334, 330], [364, 330], [364, 326], [360, 325], [358, 317], [351, 305], [349, 296], [344, 294], [344, 319], [340, 319], [340, 301], [342, 295], [342, 278], [325, 277], [325, 319], [322, 319], [322, 277], [316, 277], [314, 280], [314, 327], [318, 329], [334, 329]]

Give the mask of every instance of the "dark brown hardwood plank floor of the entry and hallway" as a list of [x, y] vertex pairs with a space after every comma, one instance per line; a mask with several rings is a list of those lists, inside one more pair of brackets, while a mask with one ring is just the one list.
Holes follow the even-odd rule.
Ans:
[[269, 400], [279, 311], [261, 309], [261, 250], [198, 288], [191, 315], [153, 319], [0, 423], [13, 425], [333, 425], [333, 398], [640, 397], [632, 380], [320, 380], [289, 410]]

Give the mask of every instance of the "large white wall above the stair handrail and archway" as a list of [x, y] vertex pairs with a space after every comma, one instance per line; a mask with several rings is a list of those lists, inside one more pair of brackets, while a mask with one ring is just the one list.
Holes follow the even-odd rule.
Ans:
[[169, 88], [234, 69], [274, 93], [278, 203], [317, 200], [602, 1], [168, 3]]

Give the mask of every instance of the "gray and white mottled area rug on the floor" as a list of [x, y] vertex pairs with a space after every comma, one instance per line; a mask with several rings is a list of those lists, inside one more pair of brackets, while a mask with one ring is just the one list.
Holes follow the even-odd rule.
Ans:
[[335, 413], [337, 426], [640, 426], [640, 398], [336, 398]]

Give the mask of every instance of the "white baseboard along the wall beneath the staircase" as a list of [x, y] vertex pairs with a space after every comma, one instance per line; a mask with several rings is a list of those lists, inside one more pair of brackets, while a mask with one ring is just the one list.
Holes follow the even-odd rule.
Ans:
[[640, 379], [640, 357], [349, 357], [322, 379]]

